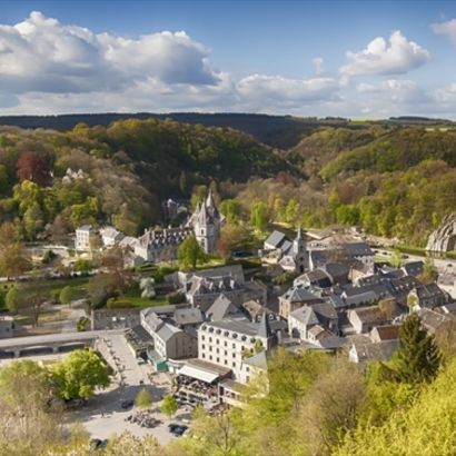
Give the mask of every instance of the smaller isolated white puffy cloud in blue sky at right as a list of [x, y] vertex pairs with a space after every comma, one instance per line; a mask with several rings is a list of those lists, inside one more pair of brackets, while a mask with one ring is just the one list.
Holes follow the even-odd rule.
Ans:
[[429, 52], [414, 41], [408, 41], [399, 30], [389, 37], [389, 46], [383, 37], [371, 40], [366, 49], [347, 52], [348, 63], [340, 68], [344, 76], [399, 75], [420, 67], [429, 59]]

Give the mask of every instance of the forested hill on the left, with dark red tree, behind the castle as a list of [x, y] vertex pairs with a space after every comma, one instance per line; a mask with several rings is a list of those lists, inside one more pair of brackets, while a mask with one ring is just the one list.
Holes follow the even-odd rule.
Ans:
[[0, 221], [13, 221], [27, 240], [44, 228], [65, 237], [81, 224], [136, 235], [159, 221], [165, 198], [280, 171], [299, 176], [280, 151], [229, 128], [169, 119], [65, 132], [0, 127]]

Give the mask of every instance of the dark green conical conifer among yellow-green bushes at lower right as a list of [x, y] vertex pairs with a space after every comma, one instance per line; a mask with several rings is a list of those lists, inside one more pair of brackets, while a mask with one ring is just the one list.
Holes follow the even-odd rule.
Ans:
[[391, 361], [398, 381], [416, 384], [433, 380], [440, 367], [440, 353], [434, 337], [422, 328], [417, 314], [409, 315], [399, 330], [399, 348]]

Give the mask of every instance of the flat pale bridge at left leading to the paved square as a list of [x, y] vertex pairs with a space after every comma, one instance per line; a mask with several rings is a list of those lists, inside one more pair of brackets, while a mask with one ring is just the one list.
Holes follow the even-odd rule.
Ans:
[[122, 334], [121, 329], [81, 333], [47, 334], [42, 336], [11, 337], [0, 339], [0, 358], [19, 358], [24, 351], [59, 353], [93, 344], [100, 337]]

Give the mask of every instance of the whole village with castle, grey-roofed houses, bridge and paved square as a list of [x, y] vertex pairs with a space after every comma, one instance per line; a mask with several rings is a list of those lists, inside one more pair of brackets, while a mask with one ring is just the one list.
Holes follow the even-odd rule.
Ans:
[[[168, 200], [163, 206], [168, 215], [169, 210], [177, 215], [178, 204]], [[176, 260], [188, 236], [195, 236], [206, 254], [214, 254], [225, 222], [209, 192], [180, 227], [150, 229], [132, 238], [113, 227], [81, 226], [75, 249], [80, 258], [90, 258], [93, 248], [120, 248], [125, 269], [143, 268]], [[244, 388], [254, 378], [267, 378], [270, 355], [279, 346], [290, 353], [337, 354], [363, 366], [393, 356], [402, 323], [412, 313], [430, 335], [452, 327], [456, 316], [452, 262], [439, 261], [437, 269], [428, 260], [402, 255], [391, 266], [395, 254], [369, 246], [356, 230], [344, 236], [330, 230], [298, 228], [294, 236], [286, 231], [275, 229], [258, 251], [236, 251], [227, 265], [176, 270], [162, 284], [149, 279], [149, 297], [165, 289], [178, 297], [176, 304], [151, 300], [142, 307], [86, 310], [83, 318], [90, 325], [86, 334], [93, 337], [83, 341], [76, 334], [73, 347], [95, 346], [116, 378], [116, 386], [100, 391], [87, 409], [87, 428], [93, 437], [108, 438], [119, 427], [143, 435], [146, 427], [167, 443], [171, 435], [166, 424], [174, 430], [178, 426], [179, 432], [171, 434], [180, 436], [191, 427], [189, 413], [197, 406], [214, 414], [242, 407]], [[140, 276], [145, 279], [147, 274]], [[83, 315], [81, 306], [78, 315]], [[3, 361], [21, 356], [61, 358], [72, 349], [59, 346], [59, 334], [53, 336], [52, 330], [22, 338], [13, 337], [24, 335], [16, 328], [13, 316], [0, 317]], [[67, 327], [62, 333], [70, 336], [75, 330]], [[20, 349], [19, 339], [28, 340]], [[177, 424], [159, 412], [149, 417], [141, 412], [138, 418], [125, 410], [145, 385], [157, 402], [172, 395], [179, 410], [174, 422], [180, 416]], [[112, 397], [118, 409], [112, 410]], [[146, 424], [140, 427], [135, 422]]]

